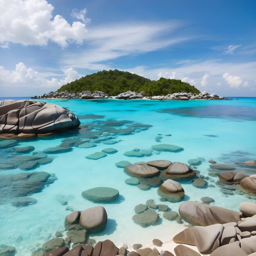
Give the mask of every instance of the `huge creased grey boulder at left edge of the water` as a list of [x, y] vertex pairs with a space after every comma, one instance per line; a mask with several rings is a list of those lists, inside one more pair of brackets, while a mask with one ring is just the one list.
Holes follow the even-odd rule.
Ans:
[[67, 108], [42, 101], [0, 101], [0, 134], [44, 134], [78, 128], [79, 119]]

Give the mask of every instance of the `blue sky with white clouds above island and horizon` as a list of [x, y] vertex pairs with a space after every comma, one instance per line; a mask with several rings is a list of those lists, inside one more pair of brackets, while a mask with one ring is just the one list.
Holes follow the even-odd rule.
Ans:
[[0, 0], [0, 96], [100, 70], [256, 97], [254, 0]]

